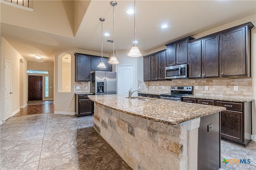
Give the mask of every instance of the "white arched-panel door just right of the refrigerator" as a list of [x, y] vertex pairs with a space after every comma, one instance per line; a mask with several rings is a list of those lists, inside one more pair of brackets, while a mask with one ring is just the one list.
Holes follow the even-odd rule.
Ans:
[[134, 66], [118, 65], [118, 94], [128, 94], [134, 90]]

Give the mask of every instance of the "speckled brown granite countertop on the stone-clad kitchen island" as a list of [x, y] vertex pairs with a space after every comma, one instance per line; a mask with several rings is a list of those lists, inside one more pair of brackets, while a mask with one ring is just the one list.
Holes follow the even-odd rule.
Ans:
[[[176, 125], [226, 110], [225, 107], [147, 97], [128, 99], [127, 95], [90, 95], [88, 97], [92, 101], [116, 111], [168, 125]], [[149, 100], [140, 101], [139, 98]]]

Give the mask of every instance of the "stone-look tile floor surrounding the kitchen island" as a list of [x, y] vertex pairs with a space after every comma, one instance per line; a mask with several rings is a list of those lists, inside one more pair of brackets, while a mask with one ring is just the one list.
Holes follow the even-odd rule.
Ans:
[[[93, 129], [93, 117], [36, 114], [11, 117], [0, 125], [1, 170], [130, 170]], [[247, 148], [221, 142], [221, 159], [250, 159], [250, 164], [221, 164], [221, 170], [255, 170], [256, 142]]]

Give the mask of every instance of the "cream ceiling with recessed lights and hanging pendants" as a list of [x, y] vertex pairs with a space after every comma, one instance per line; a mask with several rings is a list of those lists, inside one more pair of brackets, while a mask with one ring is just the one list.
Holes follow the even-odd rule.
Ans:
[[[116, 2], [115, 50], [129, 50], [134, 41], [134, 14], [129, 15], [126, 10], [134, 7], [134, 1]], [[101, 52], [99, 18], [103, 17], [106, 19], [103, 33], [110, 33], [108, 37], [103, 36], [103, 53], [112, 54], [113, 43], [106, 42], [113, 36], [110, 0], [86, 1], [84, 7], [79, 3], [34, 1], [34, 12], [1, 4], [1, 36], [28, 61], [36, 61], [34, 56], [41, 55], [42, 61], [53, 62], [54, 50], [58, 49]], [[44, 4], [53, 5], [48, 9]], [[7, 15], [8, 12], [15, 18]], [[255, 13], [255, 0], [136, 0], [136, 40], [141, 51], [151, 51]], [[161, 28], [162, 24], [167, 24], [168, 28]]]

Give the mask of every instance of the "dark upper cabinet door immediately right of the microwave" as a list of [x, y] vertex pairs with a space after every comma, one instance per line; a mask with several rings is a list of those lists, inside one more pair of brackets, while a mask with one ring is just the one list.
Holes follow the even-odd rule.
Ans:
[[190, 78], [201, 77], [201, 41], [189, 43], [188, 45], [188, 70]]

